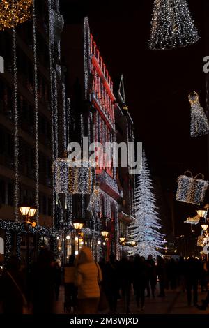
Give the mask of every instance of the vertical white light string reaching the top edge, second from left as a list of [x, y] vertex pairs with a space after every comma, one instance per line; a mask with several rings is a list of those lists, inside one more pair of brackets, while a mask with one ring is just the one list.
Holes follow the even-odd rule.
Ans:
[[36, 221], [39, 220], [39, 140], [38, 140], [38, 77], [36, 52], [36, 8], [33, 1], [33, 59], [34, 59], [34, 102], [35, 102], [35, 131], [36, 131]]

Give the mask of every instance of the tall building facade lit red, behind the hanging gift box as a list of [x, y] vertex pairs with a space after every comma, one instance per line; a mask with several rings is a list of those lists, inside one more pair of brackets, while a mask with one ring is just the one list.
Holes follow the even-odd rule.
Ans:
[[[88, 146], [95, 142], [95, 181], [100, 194], [98, 207], [91, 207], [92, 195], [72, 197], [72, 212], [84, 221], [84, 242], [91, 246], [95, 258], [108, 258], [109, 253], [118, 254], [118, 184], [113, 151], [107, 159], [105, 144], [116, 141], [115, 107], [116, 97], [113, 82], [100, 55], [98, 46], [88, 26], [88, 19], [82, 24], [69, 24], [63, 31], [63, 39], [71, 36], [68, 44], [62, 43], [65, 62], [68, 67], [67, 85], [72, 99], [72, 112], [77, 133], [72, 141], [82, 144], [88, 137]], [[79, 127], [79, 137], [78, 137]], [[103, 153], [100, 151], [103, 150]], [[84, 154], [83, 154], [84, 156]], [[88, 156], [91, 156], [89, 151]], [[77, 209], [75, 209], [75, 202]], [[101, 232], [108, 232], [102, 237]], [[73, 237], [72, 237], [73, 238]]]

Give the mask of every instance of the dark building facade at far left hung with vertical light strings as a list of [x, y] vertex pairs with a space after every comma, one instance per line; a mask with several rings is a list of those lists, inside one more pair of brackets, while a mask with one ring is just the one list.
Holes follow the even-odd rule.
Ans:
[[[52, 162], [68, 137], [63, 133], [67, 100], [60, 65], [62, 27], [59, 1], [36, 0], [28, 22], [0, 31], [2, 261], [10, 253], [23, 262], [26, 257], [35, 260], [38, 247], [56, 240]], [[36, 228], [25, 224], [19, 211], [23, 203], [36, 207]]]

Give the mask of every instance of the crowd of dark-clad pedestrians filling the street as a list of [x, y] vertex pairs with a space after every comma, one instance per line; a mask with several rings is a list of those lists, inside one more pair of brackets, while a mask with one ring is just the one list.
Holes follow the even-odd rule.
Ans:
[[[54, 313], [62, 283], [64, 311], [72, 313], [116, 313], [119, 300], [123, 313], [130, 313], [132, 291], [138, 310], [143, 311], [146, 298], [164, 297], [167, 290], [176, 288], [186, 292], [188, 306], [198, 306], [198, 288], [208, 291], [208, 271], [207, 262], [195, 258], [167, 260], [157, 256], [154, 260], [152, 255], [128, 258], [126, 253], [121, 260], [112, 253], [107, 262], [101, 259], [95, 263], [87, 246], [76, 258], [71, 255], [61, 268], [44, 248], [29, 272], [15, 256], [10, 257], [0, 278], [1, 312]], [[209, 292], [198, 307], [206, 309], [208, 303]]]

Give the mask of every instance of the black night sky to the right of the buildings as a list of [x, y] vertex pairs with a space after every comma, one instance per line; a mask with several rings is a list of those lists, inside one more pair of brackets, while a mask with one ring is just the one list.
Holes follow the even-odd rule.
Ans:
[[[112, 80], [118, 81], [123, 73], [134, 133], [137, 141], [144, 142], [153, 177], [162, 186], [164, 203], [169, 192], [174, 195], [176, 178], [185, 170], [202, 172], [208, 178], [207, 137], [190, 137], [187, 100], [189, 92], [196, 90], [202, 107], [206, 106], [206, 1], [187, 1], [199, 29], [199, 43], [153, 51], [147, 45], [153, 1], [61, 0], [66, 23], [82, 22], [88, 15], [91, 33]], [[193, 215], [194, 206], [175, 202], [177, 229], [185, 229], [178, 223]]]

